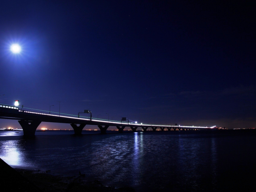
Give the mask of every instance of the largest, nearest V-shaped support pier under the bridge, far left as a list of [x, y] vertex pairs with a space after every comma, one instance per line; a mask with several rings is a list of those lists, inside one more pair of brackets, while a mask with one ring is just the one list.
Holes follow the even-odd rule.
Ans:
[[42, 121], [26, 121], [26, 120], [20, 120], [18, 121], [20, 126], [23, 129], [23, 135], [25, 137], [34, 137], [36, 128], [40, 125]]

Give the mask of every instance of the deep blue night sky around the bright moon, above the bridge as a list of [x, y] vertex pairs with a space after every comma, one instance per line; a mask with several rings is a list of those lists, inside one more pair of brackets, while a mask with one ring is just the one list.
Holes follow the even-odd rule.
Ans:
[[[1, 1], [0, 103], [59, 112], [61, 101], [60, 112], [73, 115], [255, 127], [255, 10], [233, 1]], [[0, 120], [8, 126], [21, 128]]]

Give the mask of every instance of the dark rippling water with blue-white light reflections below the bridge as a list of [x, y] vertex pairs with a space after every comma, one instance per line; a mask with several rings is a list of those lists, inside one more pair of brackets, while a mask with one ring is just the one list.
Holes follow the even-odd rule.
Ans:
[[[93, 134], [92, 134], [93, 133]], [[255, 190], [256, 132], [0, 132], [0, 158], [12, 167], [86, 174], [136, 191]]]

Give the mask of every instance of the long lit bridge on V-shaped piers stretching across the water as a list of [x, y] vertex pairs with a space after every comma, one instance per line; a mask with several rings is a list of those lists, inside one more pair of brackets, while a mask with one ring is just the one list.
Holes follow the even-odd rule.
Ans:
[[[81, 117], [67, 114], [47, 114], [36, 111], [28, 111], [19, 109], [15, 106], [0, 104], [0, 118], [1, 119], [12, 119], [18, 120], [20, 126], [23, 129], [24, 136], [35, 136], [37, 127], [41, 122], [52, 122], [52, 123], [67, 123], [72, 126], [76, 135], [82, 134], [82, 130], [85, 125], [97, 125], [100, 128], [100, 133], [106, 133], [109, 126], [116, 126], [120, 133], [123, 132], [125, 127], [130, 127], [132, 132], [136, 132], [138, 127], [141, 127], [143, 131], [147, 131], [148, 128], [152, 128], [156, 131], [160, 128], [164, 131], [166, 128], [168, 131], [171, 130], [206, 130], [213, 129], [213, 127], [198, 127], [198, 126], [180, 126], [180, 125], [157, 125], [157, 124], [137, 124], [127, 123], [122, 121], [112, 121], [105, 119], [97, 119], [92, 117]], [[41, 110], [42, 111], [42, 110]]]

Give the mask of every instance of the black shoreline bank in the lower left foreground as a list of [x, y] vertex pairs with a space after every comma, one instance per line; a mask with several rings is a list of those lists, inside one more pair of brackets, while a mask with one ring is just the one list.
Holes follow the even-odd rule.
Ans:
[[54, 175], [49, 171], [26, 170], [15, 168], [6, 164], [0, 159], [1, 190], [4, 191], [103, 191], [103, 192], [130, 192], [135, 191], [133, 188], [123, 187], [115, 188], [104, 186], [100, 181], [88, 181], [84, 174], [76, 177], [67, 177]]

